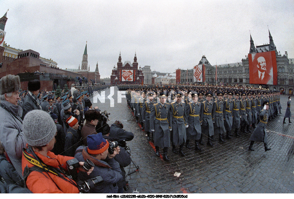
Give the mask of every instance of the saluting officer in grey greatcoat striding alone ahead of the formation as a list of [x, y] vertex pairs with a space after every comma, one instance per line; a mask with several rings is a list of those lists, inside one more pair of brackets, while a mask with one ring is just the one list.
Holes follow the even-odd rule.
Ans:
[[251, 137], [250, 137], [250, 146], [249, 146], [249, 151], [255, 151], [252, 149], [254, 142], [264, 142], [264, 150], [268, 151], [271, 148], [268, 147], [268, 136], [266, 133], [266, 125], [268, 123], [268, 109], [269, 109], [269, 101], [264, 101], [263, 104], [263, 109], [260, 111], [260, 123], [258, 123], [257, 127], [254, 129]]

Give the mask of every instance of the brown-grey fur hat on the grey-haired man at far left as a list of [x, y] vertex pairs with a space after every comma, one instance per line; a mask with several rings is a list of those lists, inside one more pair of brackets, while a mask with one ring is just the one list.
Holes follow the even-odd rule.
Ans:
[[0, 95], [19, 91], [20, 79], [18, 75], [6, 75], [0, 79]]

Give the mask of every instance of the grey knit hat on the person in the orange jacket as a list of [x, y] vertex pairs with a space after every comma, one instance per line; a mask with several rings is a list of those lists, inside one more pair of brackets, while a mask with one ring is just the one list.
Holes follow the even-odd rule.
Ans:
[[43, 110], [32, 110], [27, 113], [23, 125], [26, 140], [34, 147], [48, 144], [56, 134], [54, 120]]

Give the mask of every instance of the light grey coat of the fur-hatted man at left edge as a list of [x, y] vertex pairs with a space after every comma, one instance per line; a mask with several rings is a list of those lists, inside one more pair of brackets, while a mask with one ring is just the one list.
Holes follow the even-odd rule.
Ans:
[[22, 148], [27, 144], [21, 119], [22, 109], [5, 100], [1, 100], [0, 104], [0, 141], [15, 170], [22, 176]]

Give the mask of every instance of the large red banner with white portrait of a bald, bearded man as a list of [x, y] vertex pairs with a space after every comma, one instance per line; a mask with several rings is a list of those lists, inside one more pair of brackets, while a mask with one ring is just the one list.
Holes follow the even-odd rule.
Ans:
[[275, 51], [248, 54], [249, 83], [277, 85], [277, 60]]

